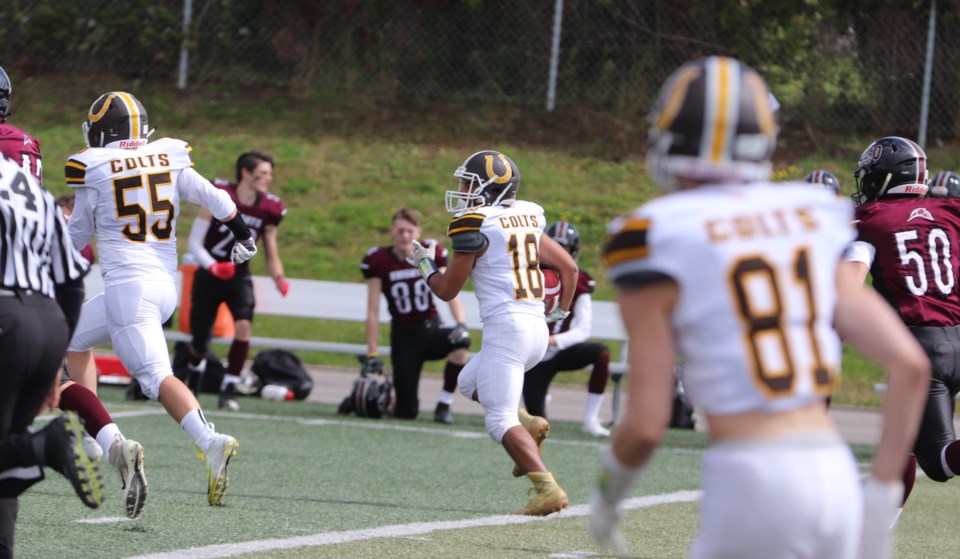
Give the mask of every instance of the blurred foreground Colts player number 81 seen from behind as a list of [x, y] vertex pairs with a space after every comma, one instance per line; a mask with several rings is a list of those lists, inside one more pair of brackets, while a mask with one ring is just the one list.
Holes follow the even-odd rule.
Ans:
[[[889, 305], [839, 273], [854, 233], [850, 202], [768, 182], [777, 126], [767, 87], [735, 59], [677, 70], [649, 124], [648, 170], [680, 192], [608, 228], [630, 392], [602, 453], [591, 532], [623, 547], [619, 505], [668, 423], [679, 357], [710, 437], [691, 557], [852, 558], [861, 539], [861, 556], [887, 556], [930, 365]], [[862, 486], [825, 413], [840, 367], [837, 332], [890, 381]]]

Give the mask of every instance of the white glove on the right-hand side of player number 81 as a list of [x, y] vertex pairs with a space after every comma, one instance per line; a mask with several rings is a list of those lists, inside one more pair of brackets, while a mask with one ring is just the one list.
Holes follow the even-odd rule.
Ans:
[[872, 475], [863, 480], [863, 530], [860, 532], [862, 559], [889, 559], [893, 555], [891, 524], [903, 501], [903, 483], [889, 483]]

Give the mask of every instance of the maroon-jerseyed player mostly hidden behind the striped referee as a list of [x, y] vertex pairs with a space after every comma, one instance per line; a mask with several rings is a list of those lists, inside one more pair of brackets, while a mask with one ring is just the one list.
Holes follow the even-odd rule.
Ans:
[[[40, 154], [40, 142], [30, 134], [6, 124], [10, 114], [10, 97], [13, 88], [10, 77], [0, 68], [0, 153], [20, 164], [27, 174], [33, 175], [41, 181], [40, 173], [43, 169], [43, 159]], [[57, 199], [63, 218], [69, 221], [73, 212], [74, 197], [61, 196]], [[93, 262], [93, 249], [87, 245], [80, 250], [81, 256]], [[82, 296], [81, 296], [82, 302]], [[93, 367], [92, 355], [85, 355], [89, 366]], [[86, 367], [86, 364], [83, 365]], [[135, 518], [143, 510], [147, 496], [147, 482], [143, 474], [143, 449], [140, 443], [124, 439], [113, 418], [103, 407], [103, 403], [95, 393], [96, 369], [87, 378], [92, 379], [94, 385], [86, 387], [76, 384], [67, 376], [62, 379], [59, 387], [58, 406], [64, 411], [74, 411], [83, 420], [86, 434], [81, 436], [84, 451], [91, 459], [99, 459], [107, 454], [110, 464], [120, 477], [123, 488], [123, 502], [127, 516]], [[81, 378], [78, 375], [78, 378]], [[98, 441], [94, 437], [99, 437]]]

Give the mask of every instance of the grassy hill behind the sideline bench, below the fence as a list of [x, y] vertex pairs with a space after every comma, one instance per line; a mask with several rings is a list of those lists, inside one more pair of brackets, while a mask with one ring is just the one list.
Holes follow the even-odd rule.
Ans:
[[[57, 194], [69, 190], [61, 165], [84, 146], [80, 124], [89, 104], [113, 89], [134, 93], [144, 102], [157, 128], [154, 138], [190, 142], [196, 167], [207, 177], [233, 178], [236, 156], [246, 149], [273, 154], [274, 190], [290, 209], [278, 235], [289, 277], [362, 281], [361, 257], [370, 246], [389, 242], [390, 216], [402, 206], [423, 212], [426, 236], [443, 237], [449, 220], [444, 191], [455, 188], [454, 169], [471, 153], [494, 148], [519, 166], [521, 197], [543, 205], [551, 221], [568, 220], [579, 227], [580, 264], [597, 277], [597, 298], [609, 300], [613, 290], [599, 260], [604, 227], [659, 194], [644, 170], [644, 115], [587, 110], [547, 114], [541, 109], [362, 96], [295, 100], [282, 90], [218, 85], [180, 92], [172, 83], [10, 73], [15, 88], [10, 123], [41, 141], [45, 184]], [[792, 134], [789, 123], [785, 129], [777, 179], [802, 178], [811, 169], [824, 168], [840, 178], [845, 191], [852, 191], [855, 162], [873, 138]], [[949, 146], [929, 151], [932, 171], [960, 166], [960, 155]], [[181, 252], [194, 215], [196, 207], [184, 204], [177, 228]], [[264, 273], [262, 259], [255, 259], [254, 271]], [[363, 339], [361, 325], [344, 332], [342, 325], [264, 317], [255, 328], [265, 336]], [[305, 359], [350, 363], [321, 355]], [[845, 373], [837, 402], [876, 402], [872, 387], [880, 375], [874, 367], [850, 355]]]

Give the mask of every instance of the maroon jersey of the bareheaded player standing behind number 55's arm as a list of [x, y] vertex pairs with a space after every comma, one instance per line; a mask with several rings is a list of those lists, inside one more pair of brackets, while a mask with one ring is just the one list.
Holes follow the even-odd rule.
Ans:
[[[254, 242], [263, 236], [263, 230], [268, 225], [280, 225], [283, 216], [287, 215], [287, 208], [283, 201], [273, 194], [259, 195], [253, 205], [241, 204], [237, 199], [237, 187], [225, 179], [214, 179], [213, 185], [230, 195], [230, 199], [237, 205], [237, 211], [243, 222], [250, 228]], [[218, 262], [229, 262], [230, 251], [233, 249], [233, 233], [227, 226], [216, 218], [210, 222], [210, 229], [203, 238], [203, 247], [210, 256]], [[237, 275], [250, 275], [250, 263], [237, 264]]]

